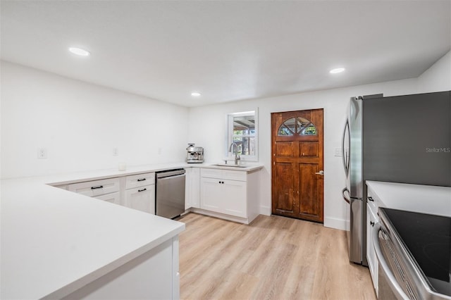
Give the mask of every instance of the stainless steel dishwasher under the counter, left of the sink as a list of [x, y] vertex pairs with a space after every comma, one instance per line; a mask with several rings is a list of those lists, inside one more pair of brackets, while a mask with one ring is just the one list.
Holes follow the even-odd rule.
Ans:
[[156, 172], [155, 214], [176, 218], [185, 211], [185, 170]]

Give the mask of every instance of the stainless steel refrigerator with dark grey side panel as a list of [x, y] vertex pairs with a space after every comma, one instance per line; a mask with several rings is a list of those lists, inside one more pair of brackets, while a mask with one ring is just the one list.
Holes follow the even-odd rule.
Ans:
[[450, 91], [350, 99], [342, 136], [350, 261], [368, 265], [365, 181], [451, 187], [450, 147]]

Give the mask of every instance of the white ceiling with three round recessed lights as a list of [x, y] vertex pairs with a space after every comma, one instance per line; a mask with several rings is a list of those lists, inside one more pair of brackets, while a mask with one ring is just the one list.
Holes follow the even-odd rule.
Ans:
[[2, 60], [182, 106], [418, 77], [451, 48], [449, 0], [0, 5]]

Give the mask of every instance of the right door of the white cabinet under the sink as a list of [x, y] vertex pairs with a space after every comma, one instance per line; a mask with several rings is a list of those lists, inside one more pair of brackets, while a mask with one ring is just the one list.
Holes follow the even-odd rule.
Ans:
[[246, 182], [223, 180], [223, 213], [247, 217]]

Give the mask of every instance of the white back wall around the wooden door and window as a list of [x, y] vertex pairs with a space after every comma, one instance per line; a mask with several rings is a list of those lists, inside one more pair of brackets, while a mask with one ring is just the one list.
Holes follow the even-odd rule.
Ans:
[[[449, 54], [447, 54], [449, 55]], [[438, 61], [438, 64], [446, 64]], [[445, 65], [446, 67], [446, 65]], [[442, 65], [433, 65], [433, 77], [450, 75]], [[434, 74], [432, 74], [434, 73]], [[426, 82], [427, 81], [427, 82]], [[424, 80], [419, 87], [419, 80], [397, 80], [373, 85], [330, 89], [319, 92], [309, 92], [288, 96], [276, 96], [265, 99], [237, 101], [214, 106], [190, 108], [190, 142], [204, 146], [207, 161], [221, 161], [223, 158], [225, 115], [239, 111], [249, 111], [259, 108], [259, 161], [265, 168], [261, 181], [260, 213], [271, 214], [271, 113], [279, 111], [296, 111], [312, 108], [324, 108], [324, 225], [345, 229], [349, 227], [349, 210], [342, 200], [341, 190], [345, 185], [345, 174], [342, 168], [342, 158], [335, 156], [335, 148], [340, 148], [342, 127], [345, 123], [347, 102], [351, 96], [380, 94], [395, 96], [401, 94], [416, 94], [433, 92], [435, 80]], [[451, 84], [435, 89], [435, 92], [451, 89]]]

